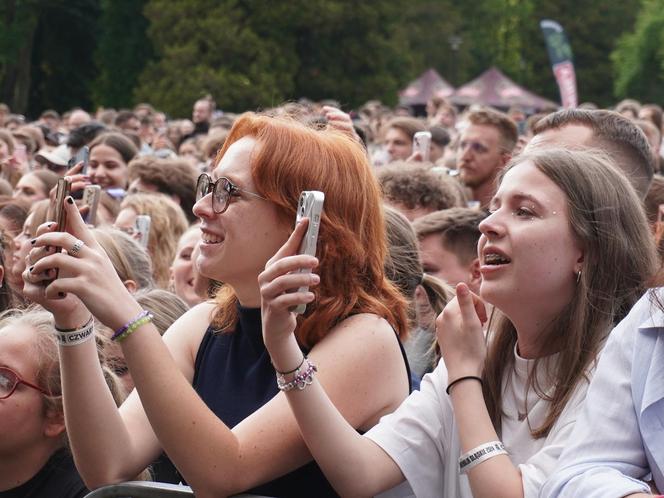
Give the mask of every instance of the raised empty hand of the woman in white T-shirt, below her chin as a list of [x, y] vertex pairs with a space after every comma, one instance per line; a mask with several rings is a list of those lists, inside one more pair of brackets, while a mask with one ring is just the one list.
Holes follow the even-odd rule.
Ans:
[[457, 284], [456, 297], [436, 319], [436, 337], [450, 379], [482, 374], [486, 321], [484, 302], [466, 284]]

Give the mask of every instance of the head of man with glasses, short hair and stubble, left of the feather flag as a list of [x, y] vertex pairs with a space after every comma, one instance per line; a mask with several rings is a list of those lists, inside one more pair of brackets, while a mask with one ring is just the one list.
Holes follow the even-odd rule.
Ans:
[[490, 108], [468, 114], [457, 150], [459, 178], [485, 208], [496, 193], [496, 177], [512, 157], [518, 138], [514, 121]]

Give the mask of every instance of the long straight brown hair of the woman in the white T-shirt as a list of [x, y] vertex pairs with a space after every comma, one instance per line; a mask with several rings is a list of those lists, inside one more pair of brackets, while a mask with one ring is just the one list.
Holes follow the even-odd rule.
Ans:
[[[542, 338], [546, 350], [559, 351], [556, 370], [550, 372], [555, 389], [547, 395], [534, 373], [528, 379], [528, 388], [551, 402], [543, 424], [531, 427], [532, 436], [541, 438], [548, 435], [579, 382], [586, 380], [612, 325], [645, 291], [656, 269], [656, 255], [641, 202], [607, 156], [598, 151], [542, 149], [513, 159], [499, 181], [525, 161], [564, 192], [570, 227], [584, 251], [574, 296]], [[500, 432], [503, 381], [514, 365], [517, 337], [512, 322], [500, 314], [489, 334], [484, 397]]]

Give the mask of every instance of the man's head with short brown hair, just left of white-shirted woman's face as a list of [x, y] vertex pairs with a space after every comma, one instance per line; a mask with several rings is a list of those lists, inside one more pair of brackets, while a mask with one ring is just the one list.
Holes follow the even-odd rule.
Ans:
[[482, 275], [477, 256], [480, 222], [486, 213], [479, 209], [450, 208], [434, 211], [413, 222], [420, 241], [424, 272], [455, 286], [460, 282], [479, 293]]

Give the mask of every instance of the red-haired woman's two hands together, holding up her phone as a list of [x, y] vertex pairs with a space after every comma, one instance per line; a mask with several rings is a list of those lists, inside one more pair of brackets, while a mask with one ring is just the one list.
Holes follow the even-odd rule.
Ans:
[[[68, 313], [80, 315], [81, 303], [105, 325], [118, 328], [140, 311], [113, 264], [87, 228], [71, 197], [65, 200], [67, 232], [42, 225], [27, 256], [23, 274], [28, 299], [51, 311], [66, 327]], [[55, 248], [61, 248], [56, 250]], [[77, 325], [80, 325], [78, 323]], [[76, 325], [74, 325], [76, 326]]]

